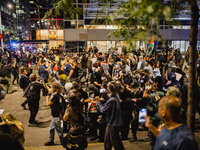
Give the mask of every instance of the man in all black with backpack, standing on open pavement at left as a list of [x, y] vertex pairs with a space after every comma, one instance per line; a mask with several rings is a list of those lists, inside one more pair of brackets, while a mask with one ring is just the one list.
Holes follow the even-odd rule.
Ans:
[[31, 96], [27, 98], [28, 107], [30, 110], [30, 117], [29, 117], [29, 127], [35, 127], [37, 125], [37, 121], [35, 117], [38, 113], [39, 109], [39, 101], [40, 101], [40, 91], [46, 87], [44, 80], [42, 83], [38, 82], [38, 78], [35, 74], [31, 74], [30, 76], [30, 93]]

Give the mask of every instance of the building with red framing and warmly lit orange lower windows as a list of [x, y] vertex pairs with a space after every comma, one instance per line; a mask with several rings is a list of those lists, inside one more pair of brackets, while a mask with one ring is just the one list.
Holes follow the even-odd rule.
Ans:
[[[64, 45], [64, 15], [55, 15], [53, 18], [43, 20], [45, 13], [51, 9], [51, 1], [30, 0], [31, 37], [32, 40], [49, 41], [48, 47]], [[46, 47], [46, 44], [42, 45]]]

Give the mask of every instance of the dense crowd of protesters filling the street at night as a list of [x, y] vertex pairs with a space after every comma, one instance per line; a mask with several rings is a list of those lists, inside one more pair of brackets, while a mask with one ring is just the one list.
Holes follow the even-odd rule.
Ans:
[[[106, 150], [123, 150], [121, 141], [137, 141], [140, 125], [148, 132], [152, 149], [196, 150], [193, 133], [185, 125], [188, 76], [184, 70], [189, 68], [188, 60], [189, 50], [181, 53], [173, 48], [154, 50], [152, 55], [141, 49], [102, 53], [97, 47], [80, 54], [7, 50], [1, 52], [0, 76], [8, 80], [4, 85], [7, 94], [15, 83], [24, 95], [29, 93], [21, 104], [24, 109], [28, 104], [29, 127], [37, 126], [43, 91], [52, 115], [46, 146], [55, 145], [56, 131], [62, 145], [69, 143], [67, 138], [88, 135], [90, 141], [104, 142]], [[198, 97], [195, 109], [200, 114]], [[147, 109], [145, 123], [138, 120], [141, 108]], [[63, 137], [63, 133], [70, 136]]]

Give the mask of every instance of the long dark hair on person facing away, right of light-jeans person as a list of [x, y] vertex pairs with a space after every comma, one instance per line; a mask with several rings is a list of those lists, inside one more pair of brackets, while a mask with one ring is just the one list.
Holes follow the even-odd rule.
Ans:
[[80, 102], [80, 93], [76, 90], [70, 90], [67, 93], [69, 107], [72, 108], [73, 113], [83, 114], [83, 104]]

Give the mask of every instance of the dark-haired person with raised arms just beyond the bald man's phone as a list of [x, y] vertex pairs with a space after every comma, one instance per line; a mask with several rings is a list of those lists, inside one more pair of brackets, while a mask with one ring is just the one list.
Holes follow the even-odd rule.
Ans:
[[[149, 82], [146, 83], [146, 86], [148, 85], [149, 85]], [[149, 94], [149, 91], [152, 91], [152, 93]], [[160, 76], [157, 76], [153, 81], [152, 88], [151, 89], [146, 88], [143, 93], [144, 99], [150, 99], [149, 104], [147, 106], [147, 114], [149, 118], [151, 119], [152, 124], [155, 127], [158, 127], [160, 123], [160, 118], [158, 116], [158, 102], [160, 101], [162, 97], [164, 97], [163, 78]], [[149, 132], [148, 135], [150, 137], [150, 145], [152, 146], [152, 149], [154, 149], [156, 137], [151, 131]]]

